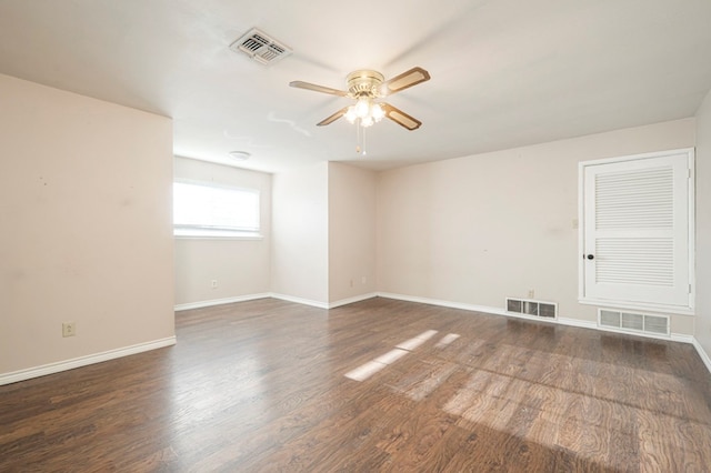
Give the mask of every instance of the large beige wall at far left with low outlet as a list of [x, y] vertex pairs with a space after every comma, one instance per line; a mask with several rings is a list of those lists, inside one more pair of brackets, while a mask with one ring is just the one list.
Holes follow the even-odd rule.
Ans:
[[172, 338], [171, 120], [7, 76], [0, 104], [0, 374]]

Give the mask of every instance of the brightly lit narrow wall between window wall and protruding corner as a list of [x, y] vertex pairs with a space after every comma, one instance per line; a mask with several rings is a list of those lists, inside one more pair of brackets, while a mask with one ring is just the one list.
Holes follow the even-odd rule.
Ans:
[[314, 305], [329, 300], [328, 162], [272, 177], [271, 288]]

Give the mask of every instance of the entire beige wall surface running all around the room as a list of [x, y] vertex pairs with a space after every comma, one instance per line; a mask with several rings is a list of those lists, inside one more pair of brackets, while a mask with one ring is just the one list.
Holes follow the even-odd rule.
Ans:
[[[169, 340], [173, 304], [270, 291], [323, 306], [379, 291], [501, 309], [534, 290], [593, 321], [577, 302], [578, 163], [694, 141], [698, 318], [674, 315], [672, 332], [711, 353], [711, 94], [697, 120], [379, 174], [176, 159], [176, 177], [260, 189], [264, 239], [179, 240], [174, 254], [170, 119], [7, 76], [0, 103], [0, 376]], [[64, 321], [77, 336], [61, 336]]]

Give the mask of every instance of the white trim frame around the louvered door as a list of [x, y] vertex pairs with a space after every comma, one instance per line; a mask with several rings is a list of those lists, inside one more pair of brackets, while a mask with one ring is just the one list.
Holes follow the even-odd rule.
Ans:
[[[669, 305], [660, 303], [643, 303], [643, 302], [630, 302], [630, 301], [612, 301], [612, 300], [598, 300], [585, 295], [585, 219], [584, 219], [584, 202], [585, 202], [585, 189], [584, 189], [584, 175], [585, 168], [589, 165], [600, 165], [608, 163], [629, 162], [634, 160], [644, 160], [651, 158], [660, 158], [672, 154], [687, 154], [688, 167], [688, 188], [687, 188], [687, 209], [688, 209], [688, 264], [689, 274], [687, 275], [689, 282], [689, 302], [685, 305]], [[581, 304], [590, 305], [610, 305], [622, 309], [635, 309], [635, 310], [652, 310], [663, 311], [669, 313], [679, 313], [693, 315], [694, 314], [694, 299], [695, 299], [695, 282], [694, 282], [694, 149], [684, 148], [661, 152], [651, 152], [643, 154], [634, 154], [627, 157], [609, 158], [594, 161], [582, 161], [579, 163], [578, 172], [579, 183], [579, 197], [578, 197], [578, 219], [580, 222], [578, 232], [578, 301]]]

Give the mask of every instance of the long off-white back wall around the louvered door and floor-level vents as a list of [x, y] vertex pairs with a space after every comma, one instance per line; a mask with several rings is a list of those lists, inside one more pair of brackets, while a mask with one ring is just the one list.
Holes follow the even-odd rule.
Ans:
[[[379, 175], [378, 289], [503, 309], [507, 296], [578, 303], [578, 163], [694, 145], [694, 120], [395, 169]], [[691, 335], [693, 316], [672, 332]]]

